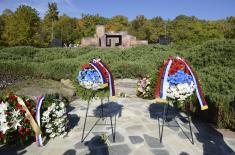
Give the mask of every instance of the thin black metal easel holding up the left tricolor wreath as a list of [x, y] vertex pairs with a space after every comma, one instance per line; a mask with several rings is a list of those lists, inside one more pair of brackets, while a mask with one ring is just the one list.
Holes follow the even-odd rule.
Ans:
[[[109, 102], [109, 99], [108, 99]], [[110, 125], [111, 130], [112, 130], [112, 138], [113, 138], [113, 142], [115, 142], [115, 133], [116, 133], [116, 115], [114, 115], [114, 123], [113, 123], [113, 116], [110, 115], [108, 116], [108, 114], [104, 115], [104, 107], [103, 107], [103, 99], [101, 99], [101, 115], [99, 116], [99, 118], [96, 120], [95, 124], [91, 127], [91, 129], [88, 131], [88, 133], [85, 135], [85, 129], [86, 129], [86, 123], [87, 123], [87, 118], [88, 117], [96, 117], [96, 116], [90, 116], [88, 115], [88, 111], [89, 111], [89, 107], [90, 107], [90, 101], [87, 102], [87, 109], [86, 109], [86, 116], [85, 116], [85, 121], [84, 121], [84, 125], [83, 125], [83, 130], [82, 130], [82, 139], [81, 142], [84, 142], [84, 140], [87, 138], [87, 136], [91, 133], [91, 131], [94, 129], [94, 127], [96, 125]], [[100, 120], [105, 120], [107, 117], [110, 118], [110, 124], [99, 124]]]

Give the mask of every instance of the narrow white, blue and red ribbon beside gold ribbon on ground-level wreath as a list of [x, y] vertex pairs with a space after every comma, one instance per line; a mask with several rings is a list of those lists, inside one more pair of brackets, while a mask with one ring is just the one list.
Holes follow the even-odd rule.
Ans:
[[[40, 112], [41, 112], [41, 106], [42, 106], [43, 100], [44, 100], [44, 96], [38, 97], [37, 105], [36, 105], [36, 121], [38, 123], [39, 128], [41, 126], [41, 115], [40, 115]], [[43, 146], [43, 144], [42, 144], [42, 135], [41, 134], [36, 134], [35, 137], [36, 137], [37, 145], [38, 146]]]

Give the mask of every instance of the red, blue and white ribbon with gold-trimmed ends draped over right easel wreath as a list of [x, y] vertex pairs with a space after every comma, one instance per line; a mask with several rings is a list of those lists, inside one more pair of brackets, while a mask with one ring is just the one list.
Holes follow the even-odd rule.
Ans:
[[[179, 57], [176, 57], [176, 59], [180, 60], [181, 62], [185, 64], [191, 76], [193, 77], [193, 82], [196, 85], [196, 94], [197, 94], [197, 98], [201, 106], [201, 110], [208, 109], [206, 100], [204, 98], [204, 95], [201, 89], [201, 85], [192, 67], [184, 59], [181, 59]], [[158, 78], [158, 83], [157, 83], [157, 88], [156, 88], [156, 101], [166, 102], [166, 83], [167, 83], [168, 73], [169, 73], [169, 69], [171, 67], [172, 61], [173, 59], [169, 58], [167, 61], [164, 62], [164, 64], [160, 68], [160, 73], [159, 73], [159, 78]]]

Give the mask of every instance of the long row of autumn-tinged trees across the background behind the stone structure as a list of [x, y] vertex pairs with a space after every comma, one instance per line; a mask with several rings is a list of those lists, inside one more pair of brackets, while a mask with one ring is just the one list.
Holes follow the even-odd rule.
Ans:
[[128, 20], [126, 16], [112, 18], [98, 14], [82, 14], [81, 18], [59, 15], [56, 3], [48, 3], [45, 16], [40, 19], [36, 9], [20, 5], [15, 12], [5, 9], [0, 15], [0, 46], [31, 45], [48, 47], [54, 38], [66, 43], [79, 43], [83, 37], [93, 36], [96, 25], [106, 30], [128, 31], [137, 39], [157, 43], [167, 35], [171, 43], [187, 47], [212, 39], [234, 39], [235, 17], [222, 20], [201, 20], [194, 16], [179, 15], [173, 20], [144, 15]]

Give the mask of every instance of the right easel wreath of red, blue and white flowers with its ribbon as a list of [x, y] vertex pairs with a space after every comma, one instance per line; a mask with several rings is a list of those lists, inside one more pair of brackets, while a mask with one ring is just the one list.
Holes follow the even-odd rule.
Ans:
[[180, 58], [169, 57], [160, 68], [156, 100], [184, 101], [196, 92], [201, 110], [208, 109], [201, 85], [190, 64]]

